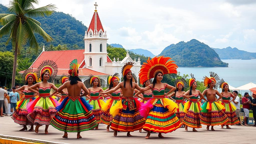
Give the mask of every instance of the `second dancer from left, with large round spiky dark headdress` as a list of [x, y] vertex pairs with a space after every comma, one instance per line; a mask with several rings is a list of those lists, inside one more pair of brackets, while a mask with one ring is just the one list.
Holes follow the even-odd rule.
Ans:
[[[29, 102], [27, 105], [28, 115], [27, 118], [34, 125], [36, 125], [35, 132], [38, 133], [40, 126], [45, 125], [45, 134], [48, 134], [48, 127], [52, 117], [56, 114], [56, 106], [58, 102], [50, 95], [51, 89], [57, 90], [58, 88], [49, 81], [53, 81], [57, 75], [58, 66], [54, 61], [43, 61], [36, 70], [37, 76], [42, 81], [28, 88], [29, 91], [37, 93], [34, 101]], [[38, 88], [39, 90], [35, 90]]]

